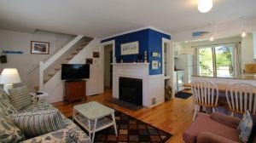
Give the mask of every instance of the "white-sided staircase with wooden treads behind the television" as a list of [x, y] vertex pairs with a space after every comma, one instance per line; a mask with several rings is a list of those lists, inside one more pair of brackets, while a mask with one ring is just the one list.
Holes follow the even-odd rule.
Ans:
[[[56, 54], [51, 56], [49, 60], [40, 61], [39, 63], [39, 90], [49, 94], [44, 100], [49, 102], [57, 102], [63, 100], [64, 88], [63, 81], [61, 80], [61, 64], [85, 64], [86, 58], [92, 58], [93, 52], [100, 52], [101, 40], [97, 38], [84, 37], [79, 35], [74, 37], [73, 40], [67, 43]], [[97, 94], [103, 92], [102, 66], [99, 66], [101, 58], [95, 59], [96, 62], [90, 65], [90, 78], [86, 79], [86, 93]], [[97, 64], [98, 63], [98, 64]], [[99, 69], [97, 69], [99, 68]], [[95, 73], [95, 74], [94, 74]], [[96, 77], [98, 77], [96, 80]], [[94, 92], [93, 87], [100, 85], [101, 90]]]

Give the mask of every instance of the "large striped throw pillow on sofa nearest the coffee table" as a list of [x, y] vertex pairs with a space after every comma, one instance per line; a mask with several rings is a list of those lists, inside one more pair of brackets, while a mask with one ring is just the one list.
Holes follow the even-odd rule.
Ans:
[[16, 114], [15, 123], [26, 135], [26, 138], [32, 138], [66, 127], [61, 113], [57, 110]]

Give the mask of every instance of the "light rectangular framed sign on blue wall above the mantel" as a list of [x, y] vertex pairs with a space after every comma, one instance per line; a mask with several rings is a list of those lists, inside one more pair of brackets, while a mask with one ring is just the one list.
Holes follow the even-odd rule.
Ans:
[[139, 53], [139, 43], [132, 42], [132, 43], [122, 43], [121, 44], [121, 55], [126, 54], [138, 54]]

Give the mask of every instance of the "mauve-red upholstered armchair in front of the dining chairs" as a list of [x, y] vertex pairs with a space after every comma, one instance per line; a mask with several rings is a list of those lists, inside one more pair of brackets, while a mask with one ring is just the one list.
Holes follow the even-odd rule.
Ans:
[[[240, 143], [237, 130], [240, 122], [240, 118], [219, 112], [212, 112], [211, 115], [199, 113], [189, 129], [183, 133], [183, 140], [185, 143]], [[256, 143], [255, 127], [249, 140], [249, 143]]]

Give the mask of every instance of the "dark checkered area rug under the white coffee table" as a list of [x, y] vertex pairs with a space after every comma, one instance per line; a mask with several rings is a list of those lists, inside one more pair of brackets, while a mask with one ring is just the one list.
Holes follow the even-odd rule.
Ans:
[[[157, 129], [148, 123], [139, 121], [123, 112], [116, 111], [114, 112], [114, 115], [116, 119], [118, 137], [115, 136], [113, 127], [109, 127], [108, 129], [103, 129], [96, 132], [95, 143], [164, 143], [166, 140], [172, 137], [172, 134], [169, 134], [161, 129]], [[83, 128], [81, 127], [81, 129]]]

